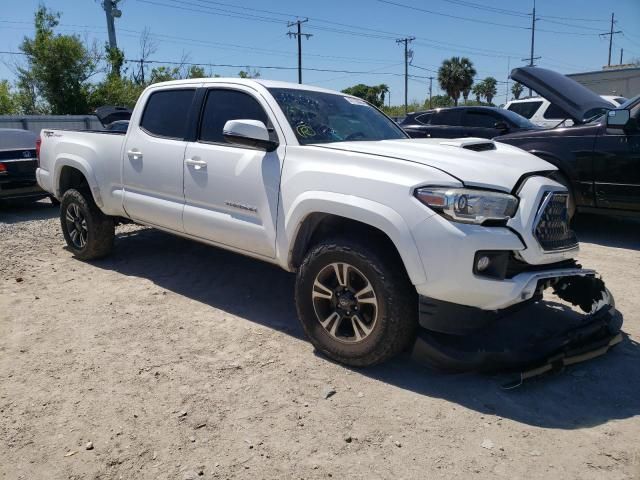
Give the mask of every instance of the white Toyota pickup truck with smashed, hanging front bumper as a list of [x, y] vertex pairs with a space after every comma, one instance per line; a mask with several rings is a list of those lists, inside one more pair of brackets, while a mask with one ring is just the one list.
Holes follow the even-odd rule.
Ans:
[[[467, 334], [595, 278], [574, 260], [555, 167], [483, 139], [410, 139], [330, 90], [156, 84], [126, 133], [43, 130], [38, 152], [77, 258], [107, 255], [126, 220], [277, 264], [297, 273], [314, 346], [353, 366], [410, 347], [418, 327]], [[601, 290], [570, 301], [593, 314]]]

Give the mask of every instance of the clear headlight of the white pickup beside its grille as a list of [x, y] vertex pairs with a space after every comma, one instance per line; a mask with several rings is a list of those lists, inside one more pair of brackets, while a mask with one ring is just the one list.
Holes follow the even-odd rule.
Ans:
[[472, 188], [422, 187], [415, 196], [448, 219], [463, 223], [506, 221], [518, 208], [513, 195]]

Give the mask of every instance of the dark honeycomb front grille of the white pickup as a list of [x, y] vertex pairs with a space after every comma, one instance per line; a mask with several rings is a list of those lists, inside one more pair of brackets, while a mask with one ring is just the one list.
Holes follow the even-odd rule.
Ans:
[[567, 193], [548, 192], [540, 204], [534, 235], [543, 250], [564, 250], [578, 244], [576, 234], [569, 228]]

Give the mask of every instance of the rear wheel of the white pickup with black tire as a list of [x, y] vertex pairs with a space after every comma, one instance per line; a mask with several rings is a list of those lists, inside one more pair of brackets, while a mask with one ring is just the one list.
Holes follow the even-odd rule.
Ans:
[[[78, 222], [71, 222], [72, 217]], [[100, 211], [91, 193], [67, 190], [60, 204], [60, 224], [69, 249], [80, 260], [102, 258], [111, 252], [115, 224]], [[80, 225], [82, 234], [78, 233]]]

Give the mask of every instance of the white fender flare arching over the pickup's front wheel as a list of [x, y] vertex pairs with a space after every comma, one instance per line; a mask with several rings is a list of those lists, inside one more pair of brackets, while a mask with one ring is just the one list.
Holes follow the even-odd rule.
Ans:
[[284, 219], [284, 235], [278, 250], [286, 254], [286, 267], [292, 268], [293, 248], [305, 219], [315, 213], [355, 220], [382, 231], [393, 242], [414, 285], [426, 282], [422, 260], [409, 226], [402, 216], [372, 200], [325, 191], [304, 192], [291, 204]]

